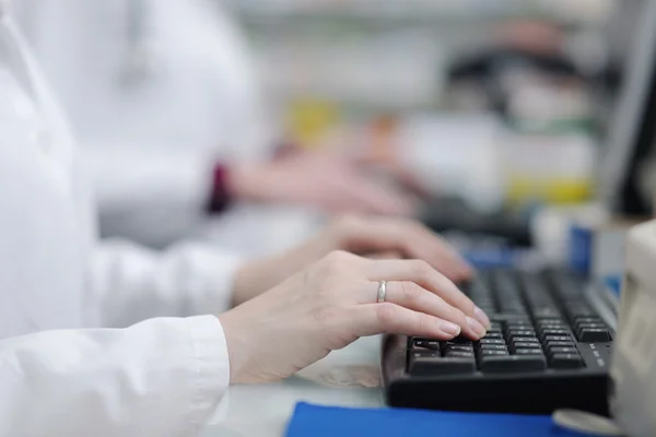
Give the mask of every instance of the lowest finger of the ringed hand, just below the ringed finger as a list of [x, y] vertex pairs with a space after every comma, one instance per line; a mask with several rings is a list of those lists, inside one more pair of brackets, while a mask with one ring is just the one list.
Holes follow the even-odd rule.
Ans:
[[446, 341], [460, 333], [450, 321], [390, 303], [359, 305], [347, 323], [358, 336], [394, 333]]

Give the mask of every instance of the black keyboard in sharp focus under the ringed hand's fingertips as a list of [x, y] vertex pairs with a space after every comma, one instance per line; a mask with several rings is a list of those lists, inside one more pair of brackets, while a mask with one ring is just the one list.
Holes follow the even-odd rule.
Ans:
[[462, 290], [492, 320], [480, 341], [390, 335], [383, 378], [391, 406], [608, 414], [614, 332], [564, 271], [479, 274]]

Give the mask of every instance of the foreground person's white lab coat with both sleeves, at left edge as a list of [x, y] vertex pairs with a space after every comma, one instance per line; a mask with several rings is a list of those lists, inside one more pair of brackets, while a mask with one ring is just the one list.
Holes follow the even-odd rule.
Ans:
[[71, 135], [3, 10], [0, 436], [196, 435], [230, 376], [219, 319], [196, 315], [226, 309], [237, 260], [96, 239]]

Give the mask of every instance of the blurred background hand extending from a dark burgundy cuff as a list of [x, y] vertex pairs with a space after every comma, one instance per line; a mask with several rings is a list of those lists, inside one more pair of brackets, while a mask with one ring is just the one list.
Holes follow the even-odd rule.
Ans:
[[330, 213], [409, 216], [414, 212], [408, 197], [328, 153], [298, 152], [268, 164], [234, 168], [230, 190], [239, 199], [304, 204]]

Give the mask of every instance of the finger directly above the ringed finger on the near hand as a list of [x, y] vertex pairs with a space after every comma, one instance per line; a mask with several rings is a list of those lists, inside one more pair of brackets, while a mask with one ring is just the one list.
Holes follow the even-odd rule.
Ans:
[[438, 295], [449, 305], [490, 327], [490, 319], [452, 281], [421, 260], [370, 261], [366, 277], [371, 281], [411, 281]]

